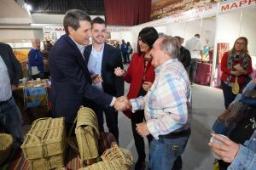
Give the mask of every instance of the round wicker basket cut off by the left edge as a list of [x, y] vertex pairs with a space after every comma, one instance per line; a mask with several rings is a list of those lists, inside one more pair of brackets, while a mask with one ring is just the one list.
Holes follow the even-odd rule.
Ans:
[[14, 139], [11, 135], [0, 133], [0, 165], [8, 158], [13, 143]]

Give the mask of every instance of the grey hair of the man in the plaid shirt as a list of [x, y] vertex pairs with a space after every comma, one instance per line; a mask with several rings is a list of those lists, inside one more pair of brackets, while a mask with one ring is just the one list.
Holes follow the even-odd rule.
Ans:
[[160, 49], [166, 51], [172, 58], [177, 57], [179, 54], [179, 46], [177, 38], [170, 36], [161, 36], [162, 41], [160, 42]]

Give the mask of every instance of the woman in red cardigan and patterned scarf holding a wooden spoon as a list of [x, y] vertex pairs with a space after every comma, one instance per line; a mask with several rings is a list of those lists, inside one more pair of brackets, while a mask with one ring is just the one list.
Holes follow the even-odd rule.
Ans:
[[247, 44], [246, 37], [237, 38], [230, 52], [224, 53], [221, 59], [221, 87], [226, 109], [236, 98], [237, 90], [234, 90], [234, 84], [238, 83], [239, 87], [237, 88], [239, 89], [244, 88], [250, 80], [249, 75], [253, 72], [252, 59], [248, 54]]

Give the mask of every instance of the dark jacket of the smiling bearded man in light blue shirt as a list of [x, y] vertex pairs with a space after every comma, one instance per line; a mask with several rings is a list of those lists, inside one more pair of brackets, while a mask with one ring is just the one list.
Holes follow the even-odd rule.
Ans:
[[[86, 65], [90, 59], [92, 45], [86, 46], [84, 58]], [[122, 59], [119, 56], [120, 50], [105, 43], [102, 54], [102, 88], [107, 94], [115, 97], [124, 95], [124, 79], [114, 75], [114, 68], [123, 68]]]

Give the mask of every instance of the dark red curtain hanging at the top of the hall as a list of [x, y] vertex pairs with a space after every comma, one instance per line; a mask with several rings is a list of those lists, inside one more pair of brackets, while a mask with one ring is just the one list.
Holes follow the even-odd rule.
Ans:
[[151, 0], [104, 0], [108, 25], [134, 26], [150, 20]]

